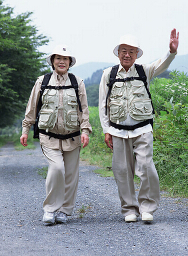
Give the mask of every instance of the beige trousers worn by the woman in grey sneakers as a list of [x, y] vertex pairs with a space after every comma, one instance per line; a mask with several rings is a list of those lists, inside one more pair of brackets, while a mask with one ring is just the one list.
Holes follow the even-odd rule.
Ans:
[[71, 215], [75, 206], [79, 181], [80, 147], [73, 151], [61, 151], [42, 146], [49, 163], [46, 178], [44, 211], [63, 211]]

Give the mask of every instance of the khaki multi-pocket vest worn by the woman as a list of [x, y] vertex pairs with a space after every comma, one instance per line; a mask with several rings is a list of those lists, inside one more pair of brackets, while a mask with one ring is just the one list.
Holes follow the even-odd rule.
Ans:
[[[79, 84], [80, 81], [78, 81]], [[49, 84], [57, 86], [53, 75], [49, 80]], [[65, 82], [66, 85], [71, 85], [69, 77]], [[63, 109], [63, 123], [67, 131], [79, 130], [79, 118], [77, 113], [77, 97], [75, 89], [63, 89], [63, 107], [59, 107], [59, 90], [45, 89], [42, 95], [42, 107], [39, 114], [39, 129], [44, 129], [46, 132], [55, 127], [57, 123], [57, 114], [59, 109]]]

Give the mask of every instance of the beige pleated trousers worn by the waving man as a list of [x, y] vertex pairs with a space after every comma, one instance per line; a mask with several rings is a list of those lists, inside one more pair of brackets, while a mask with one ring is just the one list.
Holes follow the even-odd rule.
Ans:
[[[121, 212], [124, 216], [143, 211], [153, 213], [159, 206], [159, 177], [153, 163], [153, 134], [135, 138], [113, 136], [112, 169], [117, 183]], [[135, 195], [134, 174], [140, 180], [138, 203]]]

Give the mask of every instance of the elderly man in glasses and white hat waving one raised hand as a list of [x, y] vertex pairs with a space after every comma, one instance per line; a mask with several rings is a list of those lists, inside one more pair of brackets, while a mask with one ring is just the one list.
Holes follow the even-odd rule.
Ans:
[[[153, 105], [150, 80], [163, 73], [177, 54], [179, 33], [171, 31], [169, 51], [157, 61], [136, 65], [143, 55], [133, 35], [121, 37], [113, 53], [119, 57], [116, 69], [103, 71], [99, 86], [99, 116], [105, 143], [113, 149], [112, 169], [125, 222], [153, 221], [159, 206], [159, 177], [153, 163]], [[143, 69], [142, 69], [143, 67]], [[141, 185], [138, 203], [134, 174]]]

